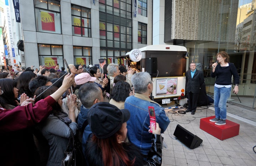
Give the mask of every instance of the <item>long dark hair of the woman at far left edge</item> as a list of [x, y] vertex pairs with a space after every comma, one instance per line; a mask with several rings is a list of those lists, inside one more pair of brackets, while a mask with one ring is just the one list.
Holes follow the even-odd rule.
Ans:
[[12, 79], [4, 78], [0, 79], [0, 86], [4, 92], [0, 96], [0, 104], [5, 108], [5, 104], [10, 104], [17, 106], [16, 98], [14, 95], [14, 87], [16, 87], [16, 82]]

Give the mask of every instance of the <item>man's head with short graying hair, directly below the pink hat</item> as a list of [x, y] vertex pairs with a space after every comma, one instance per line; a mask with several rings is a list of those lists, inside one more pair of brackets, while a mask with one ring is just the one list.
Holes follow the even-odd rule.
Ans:
[[78, 96], [85, 108], [91, 108], [95, 99], [100, 99], [102, 90], [94, 82], [87, 82], [79, 88]]

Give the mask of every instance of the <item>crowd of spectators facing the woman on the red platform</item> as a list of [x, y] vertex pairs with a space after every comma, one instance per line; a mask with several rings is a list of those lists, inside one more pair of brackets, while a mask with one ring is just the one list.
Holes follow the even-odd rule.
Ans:
[[69, 70], [41, 65], [0, 73], [0, 165], [61, 165], [71, 133], [85, 165], [161, 165], [161, 133], [170, 120], [149, 99], [149, 73], [114, 63], [102, 73], [74, 64]]

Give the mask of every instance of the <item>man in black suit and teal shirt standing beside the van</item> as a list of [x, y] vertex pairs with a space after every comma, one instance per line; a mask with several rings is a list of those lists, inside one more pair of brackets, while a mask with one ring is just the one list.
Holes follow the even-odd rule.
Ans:
[[197, 99], [200, 92], [200, 86], [204, 82], [203, 72], [196, 69], [195, 63], [190, 63], [190, 70], [186, 72], [186, 92], [188, 98], [188, 109], [194, 115], [197, 108]]

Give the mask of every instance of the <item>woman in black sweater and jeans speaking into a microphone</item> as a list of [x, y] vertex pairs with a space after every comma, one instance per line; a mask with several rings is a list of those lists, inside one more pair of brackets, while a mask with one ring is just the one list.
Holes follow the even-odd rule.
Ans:
[[216, 55], [217, 62], [212, 64], [211, 77], [216, 77], [214, 85], [214, 108], [215, 118], [210, 119], [215, 125], [226, 124], [226, 102], [230, 96], [232, 87], [232, 75], [235, 87], [233, 93], [238, 94], [239, 75], [233, 63], [229, 63], [229, 55], [225, 51], [220, 51]]

